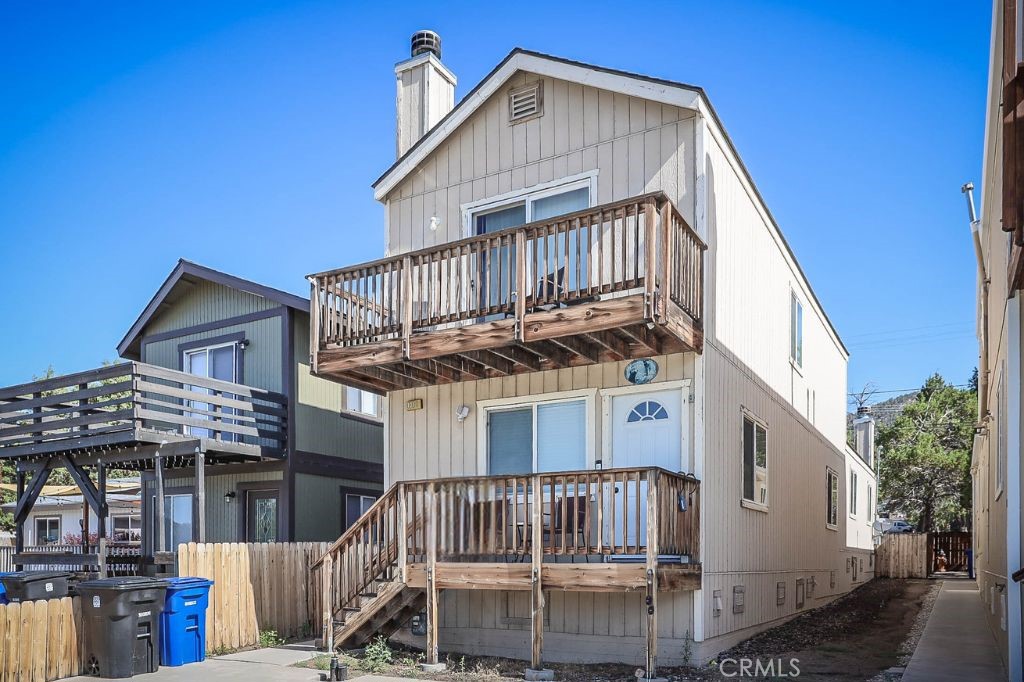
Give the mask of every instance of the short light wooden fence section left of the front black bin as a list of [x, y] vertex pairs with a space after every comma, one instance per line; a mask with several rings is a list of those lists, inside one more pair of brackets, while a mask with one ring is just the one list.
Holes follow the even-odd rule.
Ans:
[[49, 682], [82, 672], [78, 597], [0, 606], [0, 678]]

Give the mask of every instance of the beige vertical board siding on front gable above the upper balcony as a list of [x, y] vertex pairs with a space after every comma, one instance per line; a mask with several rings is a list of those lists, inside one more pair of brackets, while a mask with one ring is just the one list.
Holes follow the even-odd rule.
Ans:
[[[544, 115], [508, 124], [508, 90], [544, 83]], [[516, 74], [388, 195], [387, 253], [463, 237], [460, 206], [598, 170], [594, 203], [664, 190], [693, 217], [693, 113]], [[440, 219], [436, 231], [430, 218]]]

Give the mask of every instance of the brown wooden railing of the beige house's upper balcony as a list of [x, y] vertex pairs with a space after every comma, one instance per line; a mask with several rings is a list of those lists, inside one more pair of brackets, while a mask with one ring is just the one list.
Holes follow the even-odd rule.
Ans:
[[312, 275], [314, 348], [627, 291], [702, 318], [703, 242], [662, 193]]

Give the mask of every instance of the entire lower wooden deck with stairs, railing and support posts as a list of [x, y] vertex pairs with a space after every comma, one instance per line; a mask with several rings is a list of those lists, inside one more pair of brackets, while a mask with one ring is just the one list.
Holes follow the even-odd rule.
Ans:
[[[530, 592], [541, 664], [543, 593], [700, 587], [700, 483], [654, 468], [402, 481], [313, 564], [325, 641], [358, 646], [427, 609], [437, 659], [440, 590]], [[656, 641], [648, 640], [653, 671]]]

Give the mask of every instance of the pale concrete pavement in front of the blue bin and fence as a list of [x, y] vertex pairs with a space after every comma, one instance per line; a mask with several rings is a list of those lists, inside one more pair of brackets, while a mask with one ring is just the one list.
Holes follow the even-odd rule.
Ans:
[[[315, 653], [312, 643], [292, 644], [269, 649], [254, 649], [208, 657], [200, 664], [161, 668], [150, 675], [135, 679], [148, 682], [185, 682], [190, 680], [216, 680], [217, 682], [314, 682], [319, 671], [311, 668], [292, 668]], [[80, 682], [95, 682], [94, 677], [74, 677]]]

